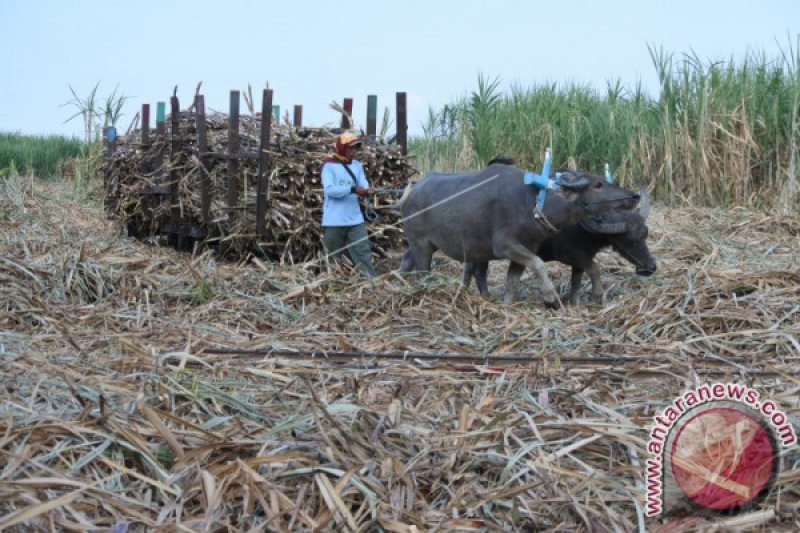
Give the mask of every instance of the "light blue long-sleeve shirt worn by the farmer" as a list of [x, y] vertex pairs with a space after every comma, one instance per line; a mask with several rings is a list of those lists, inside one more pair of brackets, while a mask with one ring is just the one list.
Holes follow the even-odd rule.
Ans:
[[353, 183], [353, 178], [342, 163], [325, 163], [322, 166], [322, 191], [325, 196], [322, 204], [323, 226], [355, 226], [364, 223], [358, 196], [350, 192], [350, 189], [354, 185], [369, 189], [369, 182], [360, 161], [354, 159], [349, 167], [357, 183]]

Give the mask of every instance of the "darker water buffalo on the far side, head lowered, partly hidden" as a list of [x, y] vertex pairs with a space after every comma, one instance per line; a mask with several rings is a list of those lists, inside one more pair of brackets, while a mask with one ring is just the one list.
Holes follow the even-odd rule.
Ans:
[[[647, 247], [647, 212], [649, 202], [647, 194], [642, 194], [642, 206], [639, 210], [623, 211], [587, 217], [574, 226], [560, 231], [546, 239], [539, 247], [536, 255], [542, 261], [559, 261], [572, 267], [572, 279], [568, 301], [575, 305], [583, 273], [588, 272], [592, 281], [592, 300], [603, 301], [603, 286], [600, 281], [600, 267], [594, 257], [600, 250], [611, 248], [636, 267], [636, 273], [650, 276], [656, 271], [656, 262]], [[463, 283], [469, 287], [472, 278], [482, 296], [489, 293], [486, 274], [489, 263], [465, 263]], [[525, 267], [510, 263], [509, 272], [519, 271]]]

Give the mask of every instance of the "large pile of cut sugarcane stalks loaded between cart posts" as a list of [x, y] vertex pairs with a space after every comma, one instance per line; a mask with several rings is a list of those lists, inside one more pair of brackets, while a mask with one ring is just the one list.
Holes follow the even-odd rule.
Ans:
[[[158, 136], [147, 145], [136, 130], [119, 139], [105, 161], [106, 205], [139, 238], [180, 234], [228, 255], [257, 252], [288, 262], [308, 261], [321, 250], [320, 166], [341, 130], [274, 124], [265, 149], [264, 229], [257, 233], [256, 197], [261, 120], [239, 118], [239, 149], [229, 154], [228, 116], [206, 117], [207, 148], [198, 149], [195, 116], [181, 112], [180, 134]], [[167, 124], [171, 123], [168, 117]], [[232, 165], [231, 160], [235, 160]], [[402, 241], [396, 193], [416, 172], [399, 146], [367, 139], [359, 154], [370, 184], [385, 192], [365, 205], [378, 218], [369, 225], [379, 256]], [[235, 176], [236, 180], [232, 180]], [[203, 179], [208, 178], [208, 213], [203, 213]], [[231, 187], [234, 188], [231, 193]], [[389, 191], [386, 191], [386, 190]], [[175, 242], [172, 242], [175, 244]]]

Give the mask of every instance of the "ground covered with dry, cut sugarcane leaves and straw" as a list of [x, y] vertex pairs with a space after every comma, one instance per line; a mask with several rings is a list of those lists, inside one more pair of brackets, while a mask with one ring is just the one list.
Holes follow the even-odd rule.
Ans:
[[644, 516], [652, 417], [683, 391], [741, 382], [797, 426], [797, 217], [656, 205], [658, 272], [603, 253], [606, 303], [550, 311], [527, 275], [503, 305], [441, 256], [371, 283], [223, 262], [69, 185], [0, 187], [4, 531], [800, 529], [796, 447], [742, 515]]

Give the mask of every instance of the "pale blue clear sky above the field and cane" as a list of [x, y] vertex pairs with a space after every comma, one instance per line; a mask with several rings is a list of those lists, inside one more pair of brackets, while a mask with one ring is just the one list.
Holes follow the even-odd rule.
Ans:
[[[366, 98], [379, 115], [408, 94], [409, 131], [477, 88], [619, 79], [654, 90], [647, 45], [700, 58], [778, 58], [796, 45], [798, 0], [0, 0], [0, 131], [82, 135], [72, 95], [100, 82], [129, 97], [119, 125], [141, 104], [181, 107], [203, 82], [206, 105], [227, 111], [229, 91], [274, 90], [281, 114], [303, 105], [309, 126], [337, 125], [333, 100]], [[242, 109], [245, 109], [242, 102]]]

